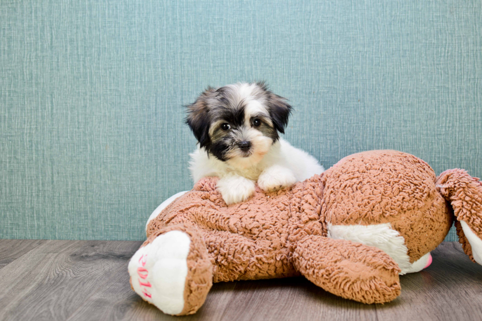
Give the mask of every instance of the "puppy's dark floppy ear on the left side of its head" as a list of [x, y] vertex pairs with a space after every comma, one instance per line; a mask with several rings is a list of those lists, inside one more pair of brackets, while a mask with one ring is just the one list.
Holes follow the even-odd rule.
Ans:
[[185, 123], [189, 125], [194, 136], [199, 142], [200, 147], [208, 146], [209, 137], [209, 114], [208, 114], [208, 97], [214, 91], [214, 88], [208, 87], [196, 101], [186, 107]]

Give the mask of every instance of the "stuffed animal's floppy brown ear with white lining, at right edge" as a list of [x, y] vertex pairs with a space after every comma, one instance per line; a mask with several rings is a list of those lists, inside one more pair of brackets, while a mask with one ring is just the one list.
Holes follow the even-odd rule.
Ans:
[[465, 254], [482, 265], [482, 182], [460, 169], [437, 177], [437, 190], [450, 202]]

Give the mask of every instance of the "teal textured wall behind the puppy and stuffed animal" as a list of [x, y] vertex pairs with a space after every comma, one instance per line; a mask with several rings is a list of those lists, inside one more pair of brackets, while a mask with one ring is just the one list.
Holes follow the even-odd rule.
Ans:
[[482, 176], [482, 1], [375, 2], [0, 1], [0, 237], [145, 238], [192, 185], [181, 105], [237, 81], [288, 97], [325, 167], [391, 148]]

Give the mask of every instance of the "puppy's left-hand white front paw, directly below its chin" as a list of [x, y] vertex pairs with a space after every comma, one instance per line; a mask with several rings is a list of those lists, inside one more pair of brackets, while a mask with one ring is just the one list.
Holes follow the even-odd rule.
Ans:
[[226, 204], [240, 203], [254, 194], [254, 182], [239, 175], [226, 176], [217, 181], [217, 190]]

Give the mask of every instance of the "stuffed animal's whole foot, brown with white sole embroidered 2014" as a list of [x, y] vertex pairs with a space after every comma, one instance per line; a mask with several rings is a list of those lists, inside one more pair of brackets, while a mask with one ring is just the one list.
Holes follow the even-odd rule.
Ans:
[[132, 289], [162, 312], [195, 313], [212, 286], [212, 263], [200, 233], [185, 224], [149, 236], [128, 265]]

